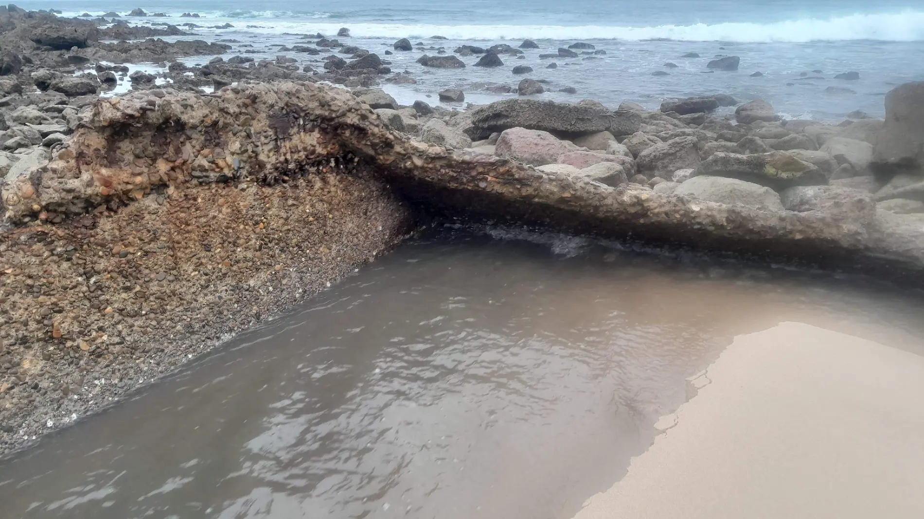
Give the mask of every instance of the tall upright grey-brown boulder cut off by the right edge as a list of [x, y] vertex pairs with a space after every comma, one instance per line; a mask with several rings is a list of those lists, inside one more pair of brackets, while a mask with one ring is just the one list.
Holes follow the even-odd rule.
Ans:
[[885, 122], [876, 139], [873, 166], [924, 169], [924, 81], [900, 85], [885, 95]]

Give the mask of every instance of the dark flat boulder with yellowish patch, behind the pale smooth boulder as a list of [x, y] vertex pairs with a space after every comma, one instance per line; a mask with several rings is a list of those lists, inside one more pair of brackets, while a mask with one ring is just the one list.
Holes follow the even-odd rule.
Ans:
[[815, 165], [800, 161], [787, 151], [754, 155], [720, 151], [700, 163], [694, 175], [727, 176], [775, 189], [828, 184], [828, 177]]

